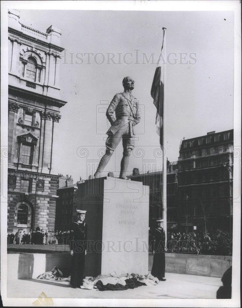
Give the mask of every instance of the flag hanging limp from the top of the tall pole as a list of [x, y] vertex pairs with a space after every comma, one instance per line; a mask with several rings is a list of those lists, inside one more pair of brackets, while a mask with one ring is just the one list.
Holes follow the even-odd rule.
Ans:
[[156, 132], [160, 136], [160, 145], [163, 146], [163, 104], [164, 104], [164, 77], [165, 77], [165, 30], [163, 29], [163, 43], [161, 53], [155, 70], [151, 87], [151, 97], [154, 99], [156, 112]]

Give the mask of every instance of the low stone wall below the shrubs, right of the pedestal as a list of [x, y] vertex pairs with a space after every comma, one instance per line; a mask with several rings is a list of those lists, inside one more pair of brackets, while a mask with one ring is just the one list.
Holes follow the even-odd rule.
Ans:
[[[166, 253], [166, 272], [176, 274], [222, 277], [232, 265], [232, 257], [207, 256], [182, 253]], [[153, 255], [149, 253], [149, 270], [153, 264]]]

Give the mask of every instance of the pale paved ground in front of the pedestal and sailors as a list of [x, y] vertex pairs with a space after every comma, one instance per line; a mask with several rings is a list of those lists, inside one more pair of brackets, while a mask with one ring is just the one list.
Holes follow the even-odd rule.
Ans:
[[38, 279], [16, 279], [7, 281], [7, 297], [38, 298], [44, 292], [51, 298], [216, 298], [222, 286], [221, 278], [166, 273], [166, 281], [156, 286], [140, 286], [122, 291], [96, 291], [73, 289], [69, 282], [49, 282]]

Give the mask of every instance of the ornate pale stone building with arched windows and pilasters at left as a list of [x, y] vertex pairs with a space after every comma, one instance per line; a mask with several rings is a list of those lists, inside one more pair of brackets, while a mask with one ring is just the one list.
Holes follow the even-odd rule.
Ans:
[[61, 30], [46, 33], [8, 12], [8, 232], [54, 229], [58, 175], [52, 174], [54, 132], [60, 119]]

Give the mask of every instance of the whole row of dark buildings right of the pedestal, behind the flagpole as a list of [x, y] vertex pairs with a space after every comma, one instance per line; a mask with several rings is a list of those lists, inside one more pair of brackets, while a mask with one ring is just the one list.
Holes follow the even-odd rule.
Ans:
[[[162, 171], [128, 177], [150, 186], [152, 229], [162, 217]], [[232, 196], [233, 129], [183, 140], [178, 161], [167, 163], [167, 230], [232, 231]]]

